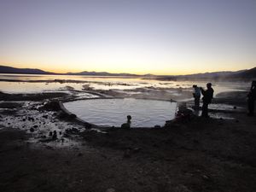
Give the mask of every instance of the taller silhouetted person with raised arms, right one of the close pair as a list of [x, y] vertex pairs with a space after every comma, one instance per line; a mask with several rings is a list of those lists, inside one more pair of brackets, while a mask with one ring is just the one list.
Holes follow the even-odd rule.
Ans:
[[201, 108], [201, 116], [202, 117], [209, 117], [208, 115], [208, 105], [209, 103], [212, 102], [212, 97], [213, 97], [213, 92], [214, 90], [212, 89], [212, 84], [208, 83], [207, 84], [207, 90], [204, 90], [200, 88], [201, 94], [203, 95], [202, 100], [203, 100], [203, 105]]

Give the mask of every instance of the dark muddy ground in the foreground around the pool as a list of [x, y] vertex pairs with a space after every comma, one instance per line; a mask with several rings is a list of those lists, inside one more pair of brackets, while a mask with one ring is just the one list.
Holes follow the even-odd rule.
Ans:
[[[42, 103], [59, 96], [63, 97], [43, 96]], [[211, 110], [212, 115], [225, 113], [230, 119], [191, 115], [190, 119], [165, 128], [108, 128], [104, 133], [77, 131], [80, 125], [60, 119], [58, 112], [33, 107], [34, 115], [50, 113], [50, 121], [56, 126], [74, 128], [58, 135], [78, 143], [66, 147], [51, 144], [61, 143], [60, 138], [47, 143], [40, 139], [31, 142], [35, 137], [48, 137], [48, 132], [40, 135], [31, 132], [30, 127], [5, 126], [7, 115], [20, 118], [22, 103], [2, 102], [0, 191], [256, 191], [256, 118], [247, 117], [245, 96], [245, 92], [234, 92], [214, 100], [213, 104], [228, 103], [242, 108]], [[26, 95], [23, 101], [29, 98]], [[12, 112], [13, 108], [16, 111]], [[29, 110], [26, 108], [24, 113]]]

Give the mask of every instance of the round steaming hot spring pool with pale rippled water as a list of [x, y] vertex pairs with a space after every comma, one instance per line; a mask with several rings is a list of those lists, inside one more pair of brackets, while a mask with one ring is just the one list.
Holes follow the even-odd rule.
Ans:
[[174, 119], [177, 103], [130, 98], [92, 99], [66, 102], [64, 107], [95, 125], [121, 126], [130, 114], [131, 127], [154, 127]]

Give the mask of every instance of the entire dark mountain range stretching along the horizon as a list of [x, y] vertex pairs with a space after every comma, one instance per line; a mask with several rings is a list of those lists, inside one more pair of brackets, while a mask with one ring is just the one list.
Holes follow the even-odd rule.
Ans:
[[61, 75], [95, 75], [95, 76], [137, 76], [152, 79], [256, 79], [256, 67], [236, 72], [224, 71], [213, 73], [195, 73], [188, 75], [137, 75], [131, 73], [108, 73], [108, 72], [80, 72], [80, 73], [50, 73], [34, 68], [15, 68], [0, 66], [0, 73], [25, 73], [25, 74], [61, 74]]

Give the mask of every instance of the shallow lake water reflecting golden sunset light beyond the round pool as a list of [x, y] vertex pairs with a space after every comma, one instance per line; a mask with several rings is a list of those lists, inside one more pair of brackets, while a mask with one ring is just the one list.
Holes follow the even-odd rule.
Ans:
[[[32, 93], [52, 90], [136, 90], [136, 89], [188, 89], [193, 84], [206, 87], [204, 81], [172, 80], [160, 81], [139, 79], [137, 77], [99, 77], [77, 75], [29, 75], [29, 74], [0, 74], [0, 90], [9, 93]], [[8, 82], [9, 80], [41, 81], [41, 82]], [[65, 81], [54, 82], [55, 79]], [[42, 82], [43, 81], [43, 82]], [[45, 82], [44, 82], [45, 81]], [[50, 82], [49, 82], [50, 81]], [[70, 82], [72, 81], [72, 82]], [[247, 90], [250, 84], [234, 82], [217, 82], [213, 84], [214, 94], [231, 90]]]

